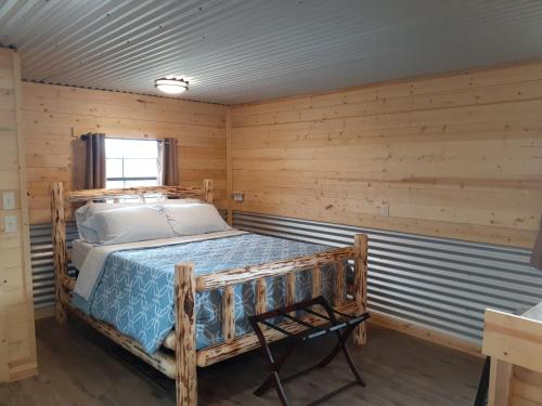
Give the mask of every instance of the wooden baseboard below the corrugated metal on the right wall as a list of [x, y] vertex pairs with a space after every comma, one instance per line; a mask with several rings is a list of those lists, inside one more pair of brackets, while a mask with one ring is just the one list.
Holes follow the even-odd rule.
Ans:
[[[433, 342], [435, 344], [448, 346], [477, 357], [483, 357], [481, 346], [470, 341], [444, 335], [415, 323], [406, 322], [399, 317], [393, 317], [387, 314], [371, 312], [370, 324], [389, 328], [404, 332], [409, 336], [417, 337], [422, 340]], [[371, 338], [370, 338], [371, 340]]]

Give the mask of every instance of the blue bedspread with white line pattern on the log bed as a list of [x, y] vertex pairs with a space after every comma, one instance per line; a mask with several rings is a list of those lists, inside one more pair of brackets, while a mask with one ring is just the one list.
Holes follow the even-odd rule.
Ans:
[[[195, 275], [256, 265], [324, 251], [330, 247], [292, 241], [258, 234], [184, 243], [156, 248], [116, 251], [108, 256], [88, 306], [73, 304], [136, 339], [149, 353], [155, 352], [175, 326], [175, 264], [193, 262]], [[322, 270], [322, 294], [334, 288], [334, 269]], [[285, 278], [270, 277], [268, 307], [285, 303]], [[247, 317], [255, 312], [255, 283], [235, 287], [235, 335], [251, 331]], [[311, 297], [310, 272], [297, 273], [296, 301]], [[80, 299], [80, 298], [79, 298]], [[196, 296], [197, 349], [218, 344], [222, 335], [222, 290]]]

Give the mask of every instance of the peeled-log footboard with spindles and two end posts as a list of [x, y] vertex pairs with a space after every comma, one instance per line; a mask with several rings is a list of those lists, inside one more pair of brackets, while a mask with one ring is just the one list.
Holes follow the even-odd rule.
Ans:
[[[354, 261], [353, 298], [346, 296], [346, 275], [344, 261]], [[267, 277], [286, 277], [286, 304], [294, 303], [296, 291], [296, 273], [311, 270], [312, 296], [320, 296], [321, 267], [336, 264], [336, 283], [334, 304], [337, 310], [348, 314], [362, 314], [366, 311], [366, 260], [367, 238], [365, 235], [354, 236], [354, 246], [331, 249], [312, 256], [299, 257], [292, 260], [270, 262], [261, 265], [245, 266], [228, 270], [216, 274], [194, 278], [190, 263], [177, 265], [177, 367], [178, 398], [182, 405], [194, 405], [197, 398], [196, 365], [205, 367], [235, 355], [255, 350], [259, 346], [258, 338], [254, 332], [235, 337], [234, 297], [235, 285], [256, 283], [257, 312], [267, 310]], [[197, 292], [222, 289], [222, 330], [224, 342], [196, 351], [194, 298]], [[346, 298], [346, 299], [345, 299]], [[179, 313], [179, 309], [181, 312]], [[325, 320], [307, 316], [312, 325], [323, 324]], [[283, 329], [297, 332], [305, 327], [294, 322], [284, 322]], [[283, 339], [285, 336], [276, 330], [264, 330], [263, 335], [269, 342]], [[356, 331], [356, 343], [366, 341], [364, 324]]]

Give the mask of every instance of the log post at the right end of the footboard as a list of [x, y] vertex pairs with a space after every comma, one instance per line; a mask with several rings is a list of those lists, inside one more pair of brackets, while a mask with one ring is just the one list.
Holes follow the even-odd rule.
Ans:
[[[367, 310], [367, 236], [356, 234], [353, 236], [354, 276], [353, 276], [353, 299], [358, 306], [358, 314], [363, 314]], [[367, 341], [366, 326], [362, 323], [356, 328], [353, 341], [358, 345], [363, 345]]]

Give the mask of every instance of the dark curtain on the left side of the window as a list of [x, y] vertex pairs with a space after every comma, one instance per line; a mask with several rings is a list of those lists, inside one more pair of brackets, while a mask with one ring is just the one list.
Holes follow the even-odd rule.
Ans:
[[85, 134], [85, 188], [105, 188], [105, 134]]

